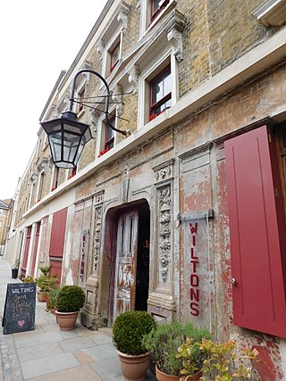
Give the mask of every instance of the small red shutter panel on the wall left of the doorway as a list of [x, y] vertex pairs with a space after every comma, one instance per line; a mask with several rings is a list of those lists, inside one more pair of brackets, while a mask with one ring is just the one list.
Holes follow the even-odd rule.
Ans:
[[53, 215], [53, 225], [50, 239], [50, 257], [63, 258], [67, 208], [56, 211]]

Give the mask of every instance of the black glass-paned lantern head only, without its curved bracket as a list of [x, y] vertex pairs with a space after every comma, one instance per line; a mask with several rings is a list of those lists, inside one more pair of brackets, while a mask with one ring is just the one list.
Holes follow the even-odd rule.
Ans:
[[52, 158], [59, 168], [75, 168], [84, 145], [91, 139], [88, 124], [77, 121], [74, 112], [63, 112], [62, 117], [40, 123], [46, 131]]

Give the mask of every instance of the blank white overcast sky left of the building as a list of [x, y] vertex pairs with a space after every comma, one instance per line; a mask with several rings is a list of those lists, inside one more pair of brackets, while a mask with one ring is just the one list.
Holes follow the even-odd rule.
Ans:
[[106, 0], [15, 0], [0, 7], [0, 199], [12, 198], [37, 143], [38, 120]]

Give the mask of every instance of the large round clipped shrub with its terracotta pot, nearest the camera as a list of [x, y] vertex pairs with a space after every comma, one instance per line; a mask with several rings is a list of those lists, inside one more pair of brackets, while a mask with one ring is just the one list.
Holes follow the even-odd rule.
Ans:
[[150, 353], [142, 337], [155, 327], [155, 319], [147, 311], [126, 311], [115, 319], [113, 341], [126, 380], [145, 379]]

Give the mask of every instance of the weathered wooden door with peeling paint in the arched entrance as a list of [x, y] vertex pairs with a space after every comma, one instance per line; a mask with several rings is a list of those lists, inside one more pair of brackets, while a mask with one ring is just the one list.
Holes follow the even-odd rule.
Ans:
[[138, 243], [138, 212], [122, 214], [118, 220], [114, 277], [114, 319], [135, 309]]

